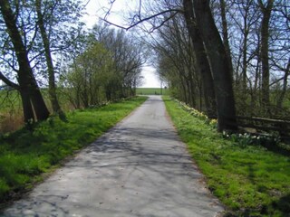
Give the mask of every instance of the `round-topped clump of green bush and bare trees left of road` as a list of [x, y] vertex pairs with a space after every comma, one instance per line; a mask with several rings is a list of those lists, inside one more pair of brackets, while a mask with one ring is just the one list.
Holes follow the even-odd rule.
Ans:
[[144, 45], [134, 35], [102, 24], [95, 25], [84, 41], [79, 44], [82, 51], [77, 46], [66, 57], [73, 61], [62, 73], [62, 93], [73, 107], [134, 96], [142, 81]]

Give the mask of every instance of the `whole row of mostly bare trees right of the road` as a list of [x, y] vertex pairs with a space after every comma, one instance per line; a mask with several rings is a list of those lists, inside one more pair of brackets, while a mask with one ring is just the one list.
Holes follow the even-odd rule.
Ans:
[[158, 73], [176, 98], [217, 117], [218, 130], [237, 130], [237, 115], [289, 117], [289, 9], [285, 0], [164, 0], [142, 3], [128, 28], [150, 24]]

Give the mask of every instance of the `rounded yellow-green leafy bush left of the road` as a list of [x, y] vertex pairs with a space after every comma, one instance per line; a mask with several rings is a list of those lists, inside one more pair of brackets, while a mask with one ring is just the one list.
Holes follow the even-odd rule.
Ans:
[[113, 66], [110, 52], [102, 43], [94, 42], [76, 58], [72, 70], [63, 76], [63, 95], [71, 100], [76, 109], [110, 100], [106, 99], [105, 93], [108, 84], [116, 79]]

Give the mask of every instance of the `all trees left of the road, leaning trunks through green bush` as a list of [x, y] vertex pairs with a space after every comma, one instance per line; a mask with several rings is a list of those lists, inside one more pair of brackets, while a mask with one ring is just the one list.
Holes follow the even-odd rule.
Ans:
[[25, 123], [65, 119], [60, 95], [78, 109], [134, 95], [142, 44], [108, 25], [87, 30], [84, 8], [79, 0], [1, 0], [0, 80], [19, 92]]

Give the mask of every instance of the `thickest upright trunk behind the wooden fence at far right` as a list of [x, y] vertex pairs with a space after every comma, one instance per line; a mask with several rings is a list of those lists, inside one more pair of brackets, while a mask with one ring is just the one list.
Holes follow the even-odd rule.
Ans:
[[269, 22], [273, 8], [274, 0], [267, 0], [266, 6], [261, 0], [259, 5], [263, 14], [261, 26], [261, 62], [262, 62], [262, 107], [266, 115], [269, 114], [270, 105], [270, 69], [269, 69]]

